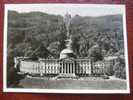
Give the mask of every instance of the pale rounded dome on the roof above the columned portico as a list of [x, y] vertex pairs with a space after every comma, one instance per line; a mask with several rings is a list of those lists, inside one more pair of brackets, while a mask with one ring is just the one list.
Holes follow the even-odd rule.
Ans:
[[76, 56], [73, 53], [73, 50], [66, 48], [61, 51], [60, 59], [66, 59], [66, 58], [76, 58]]

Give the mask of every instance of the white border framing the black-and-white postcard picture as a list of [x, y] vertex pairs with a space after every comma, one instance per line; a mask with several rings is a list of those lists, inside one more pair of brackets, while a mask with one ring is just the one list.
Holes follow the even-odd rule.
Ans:
[[[49, 4], [49, 3], [48, 3]], [[57, 3], [56, 3], [57, 4]], [[7, 18], [8, 10], [13, 5], [35, 5], [35, 4], [5, 4], [5, 14], [4, 14], [4, 41], [3, 41], [3, 92], [27, 92], [27, 93], [89, 93], [89, 94], [126, 94], [130, 93], [130, 84], [129, 84], [129, 65], [128, 65], [128, 45], [127, 45], [127, 30], [126, 30], [126, 11], [125, 5], [111, 5], [116, 7], [121, 7], [123, 9], [123, 34], [124, 34], [124, 47], [125, 47], [125, 61], [126, 61], [126, 81], [127, 89], [126, 90], [79, 90], [79, 89], [25, 89], [25, 88], [7, 88]], [[40, 4], [41, 5], [41, 4]], [[51, 4], [53, 5], [53, 4]], [[59, 4], [60, 5], [60, 4]], [[69, 5], [69, 4], [66, 4]], [[71, 4], [75, 5], [75, 4]], [[80, 4], [78, 4], [80, 5]], [[83, 4], [81, 4], [83, 5]], [[108, 6], [107, 4], [87, 4], [87, 5], [102, 5]]]

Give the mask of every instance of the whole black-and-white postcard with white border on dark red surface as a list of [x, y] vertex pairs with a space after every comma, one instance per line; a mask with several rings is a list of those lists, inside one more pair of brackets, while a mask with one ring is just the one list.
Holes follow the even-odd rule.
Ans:
[[124, 5], [6, 4], [4, 92], [130, 93]]

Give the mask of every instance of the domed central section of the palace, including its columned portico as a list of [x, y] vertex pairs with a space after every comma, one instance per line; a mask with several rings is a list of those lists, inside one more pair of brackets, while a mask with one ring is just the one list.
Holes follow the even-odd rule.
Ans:
[[75, 71], [76, 71], [76, 65], [75, 65], [75, 59], [76, 56], [74, 55], [74, 52], [71, 48], [65, 48], [60, 53], [60, 74], [58, 77], [63, 78], [76, 78]]

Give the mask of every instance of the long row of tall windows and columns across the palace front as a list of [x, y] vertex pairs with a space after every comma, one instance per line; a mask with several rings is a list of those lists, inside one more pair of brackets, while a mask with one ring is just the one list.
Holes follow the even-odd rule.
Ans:
[[90, 62], [78, 62], [78, 63], [63, 63], [63, 62], [30, 62], [21, 61], [20, 71], [25, 73], [43, 73], [43, 74], [59, 74], [59, 73], [79, 73], [79, 74], [91, 74], [104, 73], [107, 71], [107, 65], [109, 63], [93, 63]]

